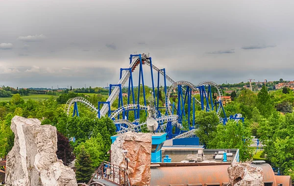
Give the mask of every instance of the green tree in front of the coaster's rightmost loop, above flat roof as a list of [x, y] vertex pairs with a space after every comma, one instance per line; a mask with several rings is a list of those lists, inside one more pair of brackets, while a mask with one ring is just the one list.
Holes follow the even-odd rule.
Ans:
[[196, 130], [196, 135], [199, 137], [202, 144], [206, 145], [206, 143], [211, 140], [211, 135], [220, 123], [220, 119], [214, 111], [199, 111], [195, 115], [195, 123], [199, 127], [198, 130]]

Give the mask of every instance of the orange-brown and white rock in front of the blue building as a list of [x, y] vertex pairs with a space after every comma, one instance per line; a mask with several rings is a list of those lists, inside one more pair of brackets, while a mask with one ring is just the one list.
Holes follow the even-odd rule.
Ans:
[[111, 145], [111, 163], [125, 167], [123, 150], [129, 159], [128, 173], [132, 185], [150, 185], [151, 133], [127, 132], [119, 136]]

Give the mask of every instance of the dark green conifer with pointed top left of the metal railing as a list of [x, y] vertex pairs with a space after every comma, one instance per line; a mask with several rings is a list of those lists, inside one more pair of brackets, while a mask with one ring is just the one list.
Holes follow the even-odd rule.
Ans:
[[76, 157], [75, 168], [75, 178], [77, 183], [89, 182], [93, 174], [93, 167], [90, 155], [85, 151], [84, 146], [81, 146], [81, 152]]

